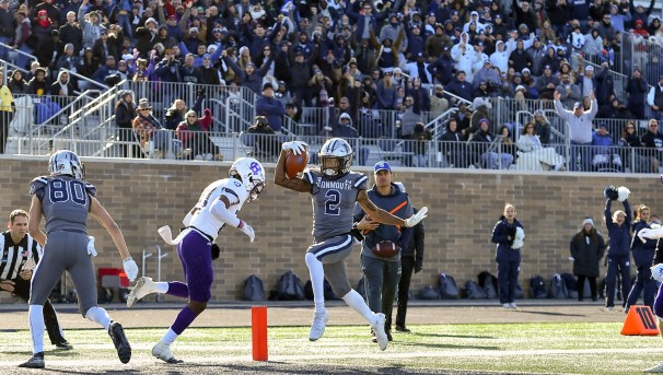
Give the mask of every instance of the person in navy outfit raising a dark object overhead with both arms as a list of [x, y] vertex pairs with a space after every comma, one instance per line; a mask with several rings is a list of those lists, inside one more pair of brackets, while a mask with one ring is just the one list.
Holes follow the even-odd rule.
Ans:
[[[615, 291], [617, 288], [617, 272], [621, 278], [621, 295], [628, 295], [631, 289], [630, 272], [630, 244], [631, 244], [631, 206], [625, 199], [624, 211], [617, 210], [612, 213], [613, 201], [605, 201], [605, 225], [608, 230], [609, 247], [607, 254], [607, 274], [605, 277], [605, 308], [615, 308]], [[624, 298], [626, 300], [626, 298]], [[626, 301], [624, 301], [626, 305]]]

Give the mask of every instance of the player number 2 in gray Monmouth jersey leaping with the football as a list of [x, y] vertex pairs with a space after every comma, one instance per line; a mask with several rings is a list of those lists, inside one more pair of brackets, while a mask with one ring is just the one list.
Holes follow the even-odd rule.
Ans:
[[385, 350], [388, 341], [384, 331], [384, 314], [375, 314], [369, 308], [363, 297], [352, 290], [346, 274], [345, 258], [352, 251], [352, 210], [354, 203], [359, 203], [364, 212], [381, 223], [409, 227], [427, 216], [428, 208], [423, 207], [419, 213], [404, 220], [373, 204], [367, 195], [369, 178], [350, 171], [352, 148], [344, 139], [326, 141], [318, 153], [319, 168], [305, 169], [301, 178], [287, 177], [286, 157], [289, 152], [295, 155], [309, 152], [309, 145], [292, 141], [283, 143], [281, 149], [274, 183], [298, 192], [307, 192], [313, 201], [314, 241], [304, 257], [315, 303], [309, 339], [319, 339], [329, 319], [324, 300], [326, 277], [334, 292], [371, 324], [380, 349]]

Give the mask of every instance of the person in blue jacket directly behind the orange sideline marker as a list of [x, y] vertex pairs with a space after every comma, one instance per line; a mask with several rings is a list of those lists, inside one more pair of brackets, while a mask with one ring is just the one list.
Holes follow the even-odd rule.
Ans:
[[631, 288], [631, 292], [628, 294], [626, 306], [624, 312], [628, 313], [630, 306], [635, 305], [640, 297], [640, 293], [644, 291], [642, 301], [644, 304], [652, 309], [654, 308], [654, 296], [656, 294], [656, 281], [651, 278], [651, 265], [654, 260], [654, 251], [656, 249], [655, 241], [648, 241], [642, 243], [638, 237], [638, 232], [643, 228], [651, 228], [650, 216], [651, 211], [649, 207], [642, 204], [638, 209], [638, 218], [633, 223], [633, 242], [631, 243], [631, 251], [633, 253], [633, 261], [638, 271], [636, 273], [636, 283]]

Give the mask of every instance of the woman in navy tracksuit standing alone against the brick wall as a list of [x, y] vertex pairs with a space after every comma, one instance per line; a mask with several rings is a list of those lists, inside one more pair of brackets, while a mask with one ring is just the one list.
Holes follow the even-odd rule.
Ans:
[[524, 231], [523, 238], [520, 238], [520, 235], [516, 238], [519, 227], [523, 231], [523, 225], [515, 219], [515, 206], [507, 203], [504, 213], [495, 224], [490, 237], [490, 242], [497, 244], [495, 260], [498, 263], [498, 290], [500, 303], [504, 308], [517, 308], [515, 285], [521, 269], [521, 247], [524, 239]]

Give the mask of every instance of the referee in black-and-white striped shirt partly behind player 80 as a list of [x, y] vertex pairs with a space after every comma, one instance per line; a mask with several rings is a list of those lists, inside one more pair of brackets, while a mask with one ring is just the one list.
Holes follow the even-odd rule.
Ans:
[[[7, 226], [9, 231], [0, 235], [0, 290], [13, 293], [27, 302], [32, 270], [42, 257], [42, 247], [27, 234], [27, 212], [12, 211]], [[44, 324], [54, 345], [62, 350], [72, 348], [65, 339], [56, 310], [48, 300], [44, 304]]]

